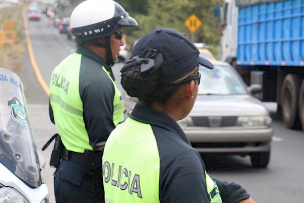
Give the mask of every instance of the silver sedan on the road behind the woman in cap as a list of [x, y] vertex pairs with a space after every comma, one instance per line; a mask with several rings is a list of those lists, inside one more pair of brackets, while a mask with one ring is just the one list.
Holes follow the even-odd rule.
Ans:
[[254, 167], [267, 167], [273, 129], [269, 111], [235, 69], [212, 61], [214, 70], [199, 68], [201, 82], [191, 113], [178, 124], [201, 154], [250, 155]]

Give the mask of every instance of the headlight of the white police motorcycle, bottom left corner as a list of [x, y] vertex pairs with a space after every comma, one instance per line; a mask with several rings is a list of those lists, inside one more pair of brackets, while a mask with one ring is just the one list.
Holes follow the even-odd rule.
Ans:
[[20, 194], [17, 190], [11, 187], [2, 187], [0, 188], [0, 202], [10, 203], [29, 203], [28, 200]]

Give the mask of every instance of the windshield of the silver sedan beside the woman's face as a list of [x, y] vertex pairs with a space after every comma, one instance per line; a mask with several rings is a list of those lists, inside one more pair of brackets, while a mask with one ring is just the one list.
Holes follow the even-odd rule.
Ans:
[[200, 65], [199, 72], [199, 94], [247, 94], [246, 86], [230, 66], [214, 65], [210, 70]]

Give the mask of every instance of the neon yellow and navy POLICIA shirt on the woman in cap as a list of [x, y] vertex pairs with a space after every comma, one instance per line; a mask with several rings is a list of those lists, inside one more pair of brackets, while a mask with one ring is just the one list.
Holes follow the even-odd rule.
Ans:
[[222, 202], [178, 124], [141, 105], [110, 134], [102, 171], [105, 202]]

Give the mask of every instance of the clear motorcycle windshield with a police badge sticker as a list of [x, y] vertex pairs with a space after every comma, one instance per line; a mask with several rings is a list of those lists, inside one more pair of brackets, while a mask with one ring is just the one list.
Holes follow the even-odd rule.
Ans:
[[0, 68], [0, 162], [32, 188], [41, 186], [40, 163], [22, 81]]

